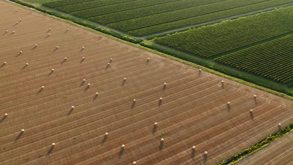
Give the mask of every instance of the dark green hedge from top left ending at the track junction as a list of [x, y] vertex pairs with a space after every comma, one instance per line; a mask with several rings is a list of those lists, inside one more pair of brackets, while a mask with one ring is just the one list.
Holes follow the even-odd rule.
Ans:
[[57, 12], [53, 12], [53, 11], [50, 11], [50, 10], [46, 10], [44, 8], [41, 8], [41, 7], [38, 7], [38, 6], [34, 6], [32, 4], [28, 4], [28, 3], [25, 3], [25, 2], [20, 1], [20, 0], [10, 0], [10, 1], [19, 3], [19, 4], [24, 5], [24, 6], [28, 6], [28, 7], [34, 8], [36, 10], [42, 11], [42, 12], [47, 13], [47, 14], [50, 14], [50, 15], [57, 16], [57, 17], [62, 18], [62, 19], [70, 20], [70, 21], [72, 21], [72, 22], [74, 22], [76, 24], [79, 24], [79, 25], [82, 25], [82, 26], [91, 28], [91, 29], [96, 30], [96, 31], [100, 31], [100, 32], [105, 33], [105, 34], [109, 34], [111, 36], [114, 36], [116, 38], [119, 38], [119, 39], [122, 39], [122, 40], [125, 40], [125, 41], [129, 41], [129, 42], [136, 43], [136, 44], [142, 42], [142, 40], [137, 40], [137, 39], [134, 39], [134, 38], [131, 38], [131, 37], [122, 35], [122, 34], [118, 34], [118, 33], [115, 33], [113, 31], [110, 31], [108, 29], [104, 29], [104, 28], [98, 27], [98, 26], [93, 25], [93, 24], [89, 24], [89, 23], [84, 22], [84, 21], [79, 21], [79, 20], [73, 19], [73, 18], [71, 18], [69, 16], [65, 16], [65, 15], [59, 14]]

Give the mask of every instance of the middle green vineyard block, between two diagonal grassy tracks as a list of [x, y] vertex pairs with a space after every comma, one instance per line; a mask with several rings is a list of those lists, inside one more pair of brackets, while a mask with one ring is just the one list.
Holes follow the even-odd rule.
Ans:
[[154, 39], [159, 44], [212, 57], [293, 31], [293, 6]]

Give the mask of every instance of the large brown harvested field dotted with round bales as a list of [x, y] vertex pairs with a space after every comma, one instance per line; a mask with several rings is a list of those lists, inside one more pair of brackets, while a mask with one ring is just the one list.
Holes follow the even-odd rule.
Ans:
[[293, 121], [289, 100], [0, 8], [1, 165], [212, 165]]

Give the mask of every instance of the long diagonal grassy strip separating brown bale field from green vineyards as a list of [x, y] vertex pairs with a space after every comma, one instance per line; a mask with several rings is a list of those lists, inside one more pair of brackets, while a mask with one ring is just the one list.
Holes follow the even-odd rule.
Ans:
[[[147, 50], [148, 52], [155, 53], [156, 55], [159, 55], [159, 56], [162, 56], [162, 57], [165, 57], [165, 58], [168, 58], [168, 59], [171, 59], [171, 60], [186, 64], [186, 65], [192, 66], [194, 68], [202, 69], [203, 71], [212, 73], [214, 75], [217, 75], [217, 76], [220, 76], [220, 77], [223, 77], [223, 78], [227, 78], [229, 80], [233, 80], [234, 82], [237, 82], [237, 83], [241, 83], [241, 84], [244, 84], [244, 85], [247, 85], [247, 86], [251, 86], [251, 87], [254, 87], [254, 88], [257, 88], [257, 89], [260, 89], [260, 90], [263, 90], [263, 91], [266, 91], [266, 92], [281, 96], [283, 98], [293, 100], [293, 96], [291, 96], [289, 94], [286, 94], [284, 92], [280, 92], [280, 91], [268, 88], [266, 86], [258, 85], [256, 83], [248, 82], [248, 81], [243, 80], [241, 78], [230, 76], [227, 73], [225, 73], [224, 71], [219, 72], [219, 71], [215, 70], [216, 68], [213, 67], [213, 66], [204, 65], [204, 64], [202, 64], [202, 65], [204, 65], [204, 66], [202, 66], [200, 64], [196, 64], [196, 63], [181, 59], [180, 57], [178, 57], [179, 55], [177, 55], [177, 54], [170, 53], [170, 52], [168, 52], [166, 50], [163, 50], [161, 48], [158, 49], [157, 47], [154, 47], [154, 46], [152, 46], [152, 45], [150, 45], [150, 44], [148, 44], [148, 43], [146, 43], [144, 41], [138, 41], [138, 40], [133, 39], [131, 37], [124, 36], [124, 35], [121, 35], [121, 34], [116, 34], [116, 33], [115, 33], [115, 35], [112, 35], [111, 33], [109, 34], [109, 32], [112, 32], [112, 31], [110, 31], [108, 29], [103, 29], [101, 27], [91, 25], [91, 24], [88, 24], [86, 22], [73, 21], [71, 19], [67, 19], [67, 16], [64, 16], [64, 15], [61, 15], [61, 14], [58, 14], [58, 13], [55, 13], [55, 12], [52, 12], [52, 11], [45, 10], [43, 8], [40, 8], [38, 6], [34, 6], [32, 4], [29, 4], [29, 3], [26, 3], [26, 2], [23, 2], [23, 1], [20, 1], [20, 0], [5, 0], [5, 1], [7, 1], [9, 3], [12, 3], [14, 5], [24, 7], [24, 8], [30, 8], [30, 9], [33, 8], [34, 11], [37, 11], [38, 13], [41, 13], [41, 14], [46, 15], [46, 16], [53, 17], [54, 19], [58, 19], [58, 20], [63, 21], [63, 22], [70, 23], [70, 24], [72, 24], [74, 26], [78, 26], [78, 27], [83, 28], [85, 30], [94, 32], [96, 34], [106, 35], [107, 37], [109, 37], [111, 39], [115, 39], [115, 40], [118, 40], [120, 42], [123, 42], [123, 43], [129, 44], [129, 45], [132, 45], [132, 46]], [[54, 15], [54, 14], [56, 14], [56, 15]], [[107, 31], [108, 33], [105, 33], [105, 31], [103, 31], [103, 30], [100, 31], [97, 28], [92, 28], [91, 26], [95, 26], [95, 27], [97, 27], [99, 29], [103, 29], [103, 30]], [[120, 36], [117, 36], [117, 35], [120, 35]], [[135, 41], [135, 42], [132, 42], [132, 41]]]

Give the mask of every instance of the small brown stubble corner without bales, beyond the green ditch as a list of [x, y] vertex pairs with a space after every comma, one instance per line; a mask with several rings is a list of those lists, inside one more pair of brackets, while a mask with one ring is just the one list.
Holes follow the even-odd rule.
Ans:
[[244, 158], [239, 165], [293, 165], [293, 132]]

